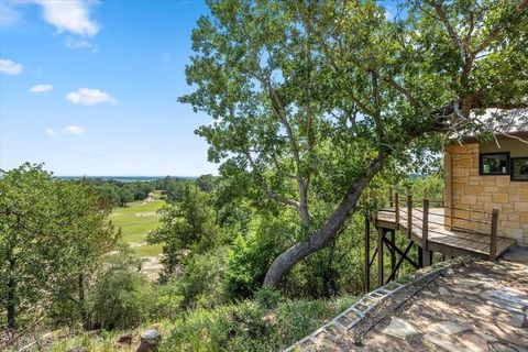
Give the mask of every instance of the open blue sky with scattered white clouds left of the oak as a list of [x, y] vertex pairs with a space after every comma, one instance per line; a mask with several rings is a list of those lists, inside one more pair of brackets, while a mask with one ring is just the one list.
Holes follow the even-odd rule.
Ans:
[[177, 98], [202, 1], [0, 0], [0, 168], [217, 174]]

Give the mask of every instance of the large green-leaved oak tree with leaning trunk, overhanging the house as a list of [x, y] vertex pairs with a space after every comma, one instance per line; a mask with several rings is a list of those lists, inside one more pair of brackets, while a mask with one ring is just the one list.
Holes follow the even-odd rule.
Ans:
[[265, 285], [330, 245], [383, 169], [527, 105], [526, 0], [416, 0], [391, 20], [370, 0], [208, 4], [180, 101], [213, 118], [197, 133], [222, 176], [251, 178], [302, 232]]

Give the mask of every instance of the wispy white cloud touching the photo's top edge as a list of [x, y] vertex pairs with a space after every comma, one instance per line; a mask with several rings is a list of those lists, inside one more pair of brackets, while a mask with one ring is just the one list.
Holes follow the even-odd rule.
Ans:
[[46, 22], [59, 32], [70, 32], [84, 36], [94, 36], [100, 26], [90, 19], [90, 7], [97, 1], [90, 0], [34, 0], [44, 12]]

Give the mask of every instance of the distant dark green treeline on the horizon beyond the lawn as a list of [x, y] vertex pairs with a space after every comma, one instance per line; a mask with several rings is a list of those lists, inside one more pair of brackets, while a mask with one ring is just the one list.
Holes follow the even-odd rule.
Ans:
[[186, 184], [197, 184], [201, 190], [210, 191], [213, 187], [215, 176], [202, 175], [198, 178], [166, 176], [148, 180], [82, 177], [73, 180], [90, 184], [108, 204], [116, 207], [125, 207], [128, 202], [146, 199], [154, 190], [161, 190], [164, 198], [169, 201], [179, 200], [183, 197]]

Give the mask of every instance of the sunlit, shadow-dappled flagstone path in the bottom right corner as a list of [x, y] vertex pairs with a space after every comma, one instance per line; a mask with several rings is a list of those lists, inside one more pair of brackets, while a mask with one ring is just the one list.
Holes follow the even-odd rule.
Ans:
[[528, 352], [528, 249], [414, 282], [352, 329], [295, 350]]

